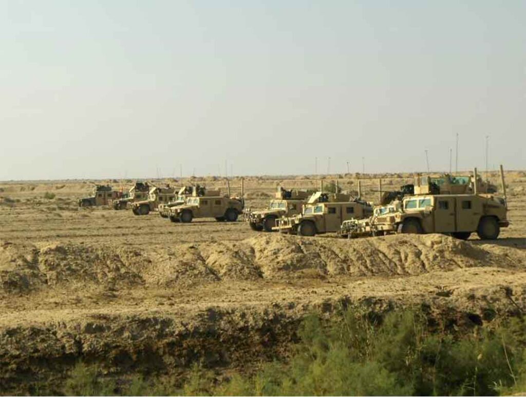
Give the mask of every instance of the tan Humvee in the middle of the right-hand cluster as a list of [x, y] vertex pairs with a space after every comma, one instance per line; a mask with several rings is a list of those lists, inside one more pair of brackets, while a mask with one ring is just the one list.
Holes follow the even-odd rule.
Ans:
[[351, 196], [348, 194], [316, 192], [310, 196], [301, 214], [278, 219], [273, 230], [299, 236], [313, 236], [337, 232], [343, 221], [362, 219], [372, 214], [369, 203], [350, 200]]

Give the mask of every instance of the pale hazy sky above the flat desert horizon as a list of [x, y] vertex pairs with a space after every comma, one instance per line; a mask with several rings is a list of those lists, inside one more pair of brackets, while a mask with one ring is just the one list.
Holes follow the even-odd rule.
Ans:
[[[526, 168], [526, 2], [0, 0], [0, 180]], [[159, 170], [159, 171], [158, 171]]]

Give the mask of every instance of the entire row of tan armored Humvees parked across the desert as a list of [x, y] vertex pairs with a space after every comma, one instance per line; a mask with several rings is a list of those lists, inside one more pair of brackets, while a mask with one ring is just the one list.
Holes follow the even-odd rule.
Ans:
[[[123, 196], [108, 185], [96, 185], [93, 196], [79, 200], [79, 206], [112, 204], [114, 209], [130, 207], [136, 215], [158, 209], [161, 217], [172, 222], [189, 223], [195, 218], [213, 217], [216, 221], [235, 222], [240, 214], [255, 231], [279, 231], [299, 236], [338, 232], [356, 238], [396, 233], [443, 233], [468, 239], [477, 233], [480, 239], [497, 239], [501, 227], [509, 225], [504, 174], [501, 166], [504, 198], [495, 196], [497, 187], [482, 181], [475, 169], [472, 176], [417, 177], [414, 184], [398, 191], [380, 192], [380, 206], [372, 207], [358, 198], [323, 190], [312, 193], [278, 188], [265, 210], [244, 210], [241, 197], [221, 195], [219, 190], [185, 186], [150, 187], [136, 183]], [[147, 200], [146, 190], [149, 188]], [[141, 198], [143, 200], [141, 200]]]

